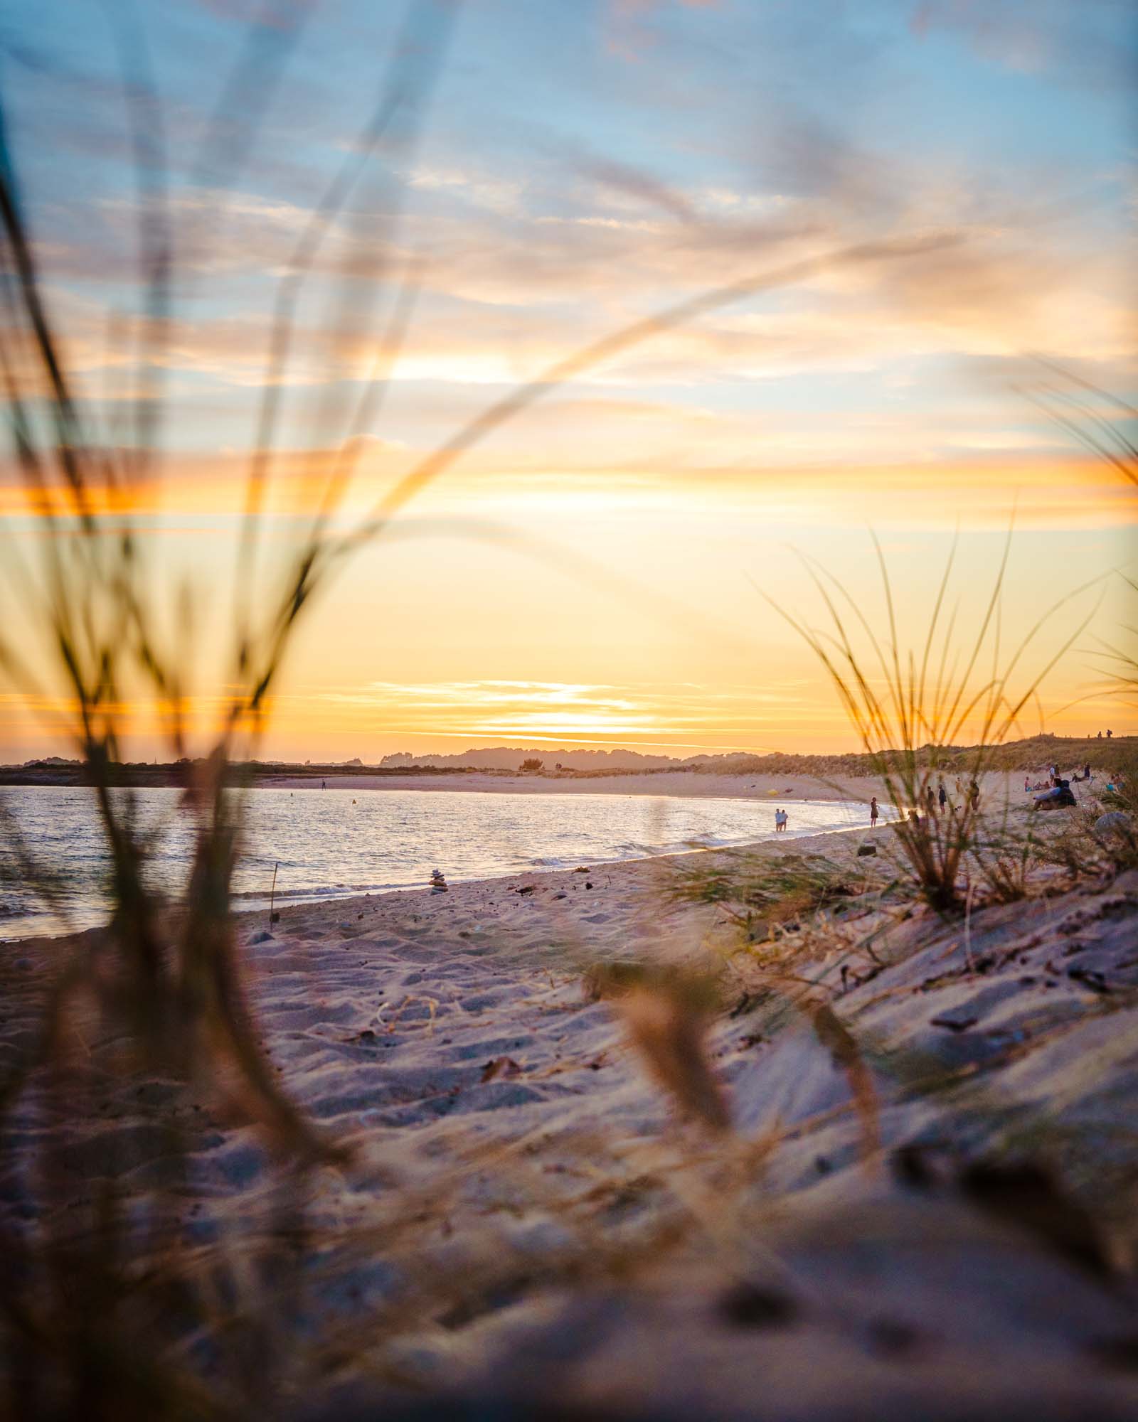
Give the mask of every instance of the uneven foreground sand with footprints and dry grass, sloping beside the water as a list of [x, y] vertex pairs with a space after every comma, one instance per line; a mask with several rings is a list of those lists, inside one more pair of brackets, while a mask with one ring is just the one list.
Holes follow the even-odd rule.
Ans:
[[[748, 853], [825, 856], [856, 889], [858, 849], [889, 833]], [[671, 900], [679, 863], [242, 917], [267, 1054], [351, 1152], [319, 1173], [304, 1274], [321, 1327], [363, 1351], [331, 1391], [306, 1386], [303, 1415], [441, 1415], [415, 1411], [424, 1388], [435, 1408], [523, 1399], [523, 1416], [552, 1398], [573, 1416], [741, 1416], [760, 1394], [772, 1418], [916, 1398], [936, 1418], [1134, 1415], [1138, 876], [967, 930], [866, 900], [825, 937], [784, 923], [740, 958], [718, 904]], [[63, 947], [9, 964], [6, 1059]], [[583, 985], [597, 964], [714, 974], [727, 1130], [684, 1119], [643, 1021]], [[114, 1044], [92, 1022], [85, 1049]], [[77, 1200], [124, 1159], [129, 1189], [161, 1177], [147, 1106], [165, 1091], [131, 1082], [68, 1126]], [[195, 1140], [185, 1244], [239, 1249], [272, 1212], [272, 1159], [206, 1102], [174, 1109]], [[40, 1129], [34, 1102], [7, 1125], [0, 1202], [20, 1230]], [[1034, 1213], [1001, 1204], [987, 1163], [1016, 1142], [1046, 1166]]]

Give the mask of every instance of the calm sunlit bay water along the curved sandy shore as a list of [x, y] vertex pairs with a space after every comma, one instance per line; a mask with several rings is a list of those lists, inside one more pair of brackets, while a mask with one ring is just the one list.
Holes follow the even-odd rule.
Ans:
[[[68, 924], [105, 919], [107, 856], [91, 792], [71, 788], [0, 791], [37, 860], [63, 875]], [[138, 791], [141, 815], [156, 832], [156, 886], [184, 882], [189, 828], [179, 791]], [[495, 795], [478, 791], [249, 792], [249, 836], [238, 867], [238, 903], [276, 897], [344, 897], [421, 887], [432, 869], [448, 880], [486, 879], [640, 859], [698, 846], [744, 845], [774, 835], [770, 802], [673, 795]], [[792, 803], [785, 838], [866, 822], [863, 805]], [[3, 830], [0, 830], [0, 836]], [[11, 848], [0, 842], [0, 937], [58, 933], [20, 883]]]

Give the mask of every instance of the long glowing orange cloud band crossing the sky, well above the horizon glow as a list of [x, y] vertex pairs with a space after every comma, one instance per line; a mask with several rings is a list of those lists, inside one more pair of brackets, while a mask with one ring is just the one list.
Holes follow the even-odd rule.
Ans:
[[[617, 404], [615, 418], [633, 425], [633, 438], [650, 407]], [[579, 418], [570, 404], [563, 418], [572, 428]], [[923, 462], [866, 462], [844, 459], [842, 449], [858, 452], [858, 434], [849, 428], [821, 431], [812, 445], [802, 447], [797, 435], [785, 437], [802, 461], [781, 462], [777, 456], [784, 437], [768, 432], [764, 444], [770, 462], [753, 462], [745, 431], [737, 439], [717, 438], [716, 419], [688, 412], [664, 435], [654, 456], [632, 458], [626, 464], [600, 462], [565, 465], [560, 459], [539, 461], [529, 449], [492, 459], [471, 456], [465, 464], [430, 486], [420, 499], [424, 513], [509, 515], [525, 519], [556, 509], [562, 515], [593, 516], [605, 510], [639, 509], [676, 513], [684, 508], [724, 518], [740, 513], [762, 516], [770, 523], [834, 525], [866, 522], [866, 510], [881, 526], [909, 528], [1006, 528], [1014, 515], [1020, 528], [1070, 529], [1117, 528], [1138, 522], [1138, 501], [1101, 461], [1091, 456], [1036, 454], [984, 454], [983, 437], [972, 458], [937, 458], [932, 451]], [[898, 447], [909, 441], [902, 431]], [[999, 438], [993, 435], [999, 445]], [[704, 448], [707, 447], [707, 448]], [[605, 449], [586, 451], [603, 459]], [[620, 451], [627, 452], [627, 451]], [[721, 464], [697, 464], [696, 458], [720, 455]], [[364, 441], [358, 478], [340, 506], [343, 518], [364, 515], [398, 475], [414, 462], [415, 451]], [[296, 518], [316, 512], [336, 451], [284, 452], [275, 464], [275, 479], [266, 499], [272, 516]], [[129, 488], [95, 489], [92, 512], [104, 516], [239, 518], [245, 508], [248, 459], [239, 455], [179, 456], [165, 462], [164, 479], [148, 478]], [[0, 481], [0, 516], [68, 513], [63, 498], [28, 493], [13, 482], [11, 471]]]

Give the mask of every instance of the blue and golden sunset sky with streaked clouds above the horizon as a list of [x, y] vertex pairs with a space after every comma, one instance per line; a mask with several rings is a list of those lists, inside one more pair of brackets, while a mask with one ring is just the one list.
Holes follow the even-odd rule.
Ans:
[[[1017, 727], [1138, 729], [1105, 694], [1138, 621], [1138, 491], [1048, 414], [1074, 394], [1124, 428], [1077, 383], [1138, 394], [1135, 41], [1121, 0], [11, 0], [11, 159], [108, 442], [138, 438], [161, 176], [174, 313], [129, 513], [155, 604], [172, 619], [192, 589], [201, 735], [230, 684], [266, 385], [260, 590], [337, 459], [347, 529], [532, 395], [321, 590], [266, 755], [855, 748], [784, 616], [825, 620], [811, 569], [885, 636], [875, 535], [903, 656], [954, 546], [963, 648], [1010, 528], [999, 656], [1058, 604], [1013, 678], [1055, 663]], [[275, 300], [344, 173], [269, 375]], [[0, 516], [34, 562], [43, 509], [7, 452]], [[0, 683], [0, 759], [67, 754], [36, 610], [0, 596], [34, 673]], [[161, 758], [161, 708], [124, 711]]]

